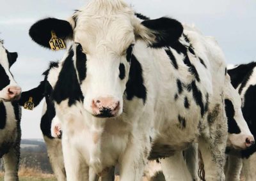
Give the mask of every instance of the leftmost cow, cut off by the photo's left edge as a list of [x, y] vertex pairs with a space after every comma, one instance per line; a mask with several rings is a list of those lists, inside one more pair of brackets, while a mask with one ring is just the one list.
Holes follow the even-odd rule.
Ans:
[[18, 180], [21, 110], [17, 99], [21, 89], [10, 72], [17, 57], [0, 41], [0, 158], [4, 161], [4, 180]]

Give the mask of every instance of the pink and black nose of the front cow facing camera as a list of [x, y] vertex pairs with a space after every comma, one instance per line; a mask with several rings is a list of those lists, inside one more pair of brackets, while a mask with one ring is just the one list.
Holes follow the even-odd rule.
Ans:
[[92, 111], [96, 117], [115, 117], [119, 110], [120, 102], [114, 98], [97, 98], [92, 101]]

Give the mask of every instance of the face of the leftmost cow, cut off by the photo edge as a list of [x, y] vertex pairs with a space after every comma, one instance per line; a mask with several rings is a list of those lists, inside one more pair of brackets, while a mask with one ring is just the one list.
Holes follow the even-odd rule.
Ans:
[[13, 101], [20, 98], [21, 89], [10, 73], [10, 67], [17, 57], [16, 52], [8, 52], [0, 43], [0, 100]]

